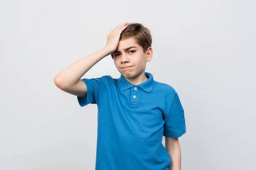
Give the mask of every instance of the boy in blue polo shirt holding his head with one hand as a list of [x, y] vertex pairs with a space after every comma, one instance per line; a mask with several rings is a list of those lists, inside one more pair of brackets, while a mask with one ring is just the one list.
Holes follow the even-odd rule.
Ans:
[[[184, 110], [174, 88], [145, 72], [153, 57], [151, 42], [148, 28], [125, 22], [110, 32], [104, 48], [55, 76], [55, 85], [76, 95], [81, 107], [98, 105], [96, 170], [181, 169]], [[81, 79], [110, 54], [121, 73], [118, 79]]]

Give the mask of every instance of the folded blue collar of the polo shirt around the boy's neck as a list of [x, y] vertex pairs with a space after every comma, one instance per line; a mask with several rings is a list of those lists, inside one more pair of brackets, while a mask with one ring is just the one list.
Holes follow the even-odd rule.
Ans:
[[[144, 91], [150, 92], [151, 89], [154, 87], [154, 79], [153, 79], [153, 75], [151, 73], [145, 72], [145, 76], [148, 78], [145, 82], [137, 85], [140, 88], [142, 88]], [[120, 88], [122, 89], [122, 91], [125, 91], [128, 88], [131, 88], [132, 86], [134, 86], [133, 84], [131, 84], [130, 82], [128, 82], [123, 75], [121, 74], [121, 77], [119, 77], [118, 79], [118, 83]]]

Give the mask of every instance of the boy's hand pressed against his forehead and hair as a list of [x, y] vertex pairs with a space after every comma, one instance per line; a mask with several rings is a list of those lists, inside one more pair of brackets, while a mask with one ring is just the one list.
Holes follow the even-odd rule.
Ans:
[[123, 23], [121, 26], [117, 26], [113, 29], [107, 36], [107, 43], [105, 45], [106, 48], [110, 50], [110, 54], [116, 51], [121, 33], [127, 27], [127, 22]]

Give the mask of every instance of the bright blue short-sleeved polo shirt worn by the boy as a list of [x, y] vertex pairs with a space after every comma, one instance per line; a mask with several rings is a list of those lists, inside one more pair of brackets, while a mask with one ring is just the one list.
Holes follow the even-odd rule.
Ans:
[[81, 79], [87, 96], [77, 96], [79, 105], [98, 106], [96, 170], [170, 169], [162, 139], [186, 133], [184, 110], [174, 88], [145, 76], [140, 85], [122, 74]]

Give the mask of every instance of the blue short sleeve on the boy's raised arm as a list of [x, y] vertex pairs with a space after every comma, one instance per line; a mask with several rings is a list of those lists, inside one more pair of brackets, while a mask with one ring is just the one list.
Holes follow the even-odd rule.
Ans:
[[87, 96], [77, 96], [79, 105], [99, 104], [106, 94], [108, 78], [106, 76], [92, 79], [81, 79], [87, 86]]

